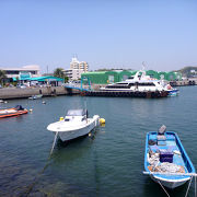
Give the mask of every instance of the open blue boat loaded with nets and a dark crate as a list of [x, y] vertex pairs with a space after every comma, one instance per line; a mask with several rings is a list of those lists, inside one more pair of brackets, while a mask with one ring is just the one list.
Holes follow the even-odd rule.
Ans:
[[175, 188], [196, 176], [196, 172], [178, 136], [165, 130], [163, 125], [158, 132], [147, 134], [143, 174], [162, 186]]

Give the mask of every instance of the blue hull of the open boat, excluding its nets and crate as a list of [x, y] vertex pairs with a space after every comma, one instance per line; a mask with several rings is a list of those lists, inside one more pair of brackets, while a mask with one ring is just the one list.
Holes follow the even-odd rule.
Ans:
[[[150, 146], [149, 140], [154, 140], [157, 142], [157, 136], [158, 132], [148, 132], [147, 134], [147, 140], [146, 140], [146, 152], [144, 152], [144, 170], [146, 172], [150, 173], [150, 177], [157, 182], [162, 184], [163, 186], [167, 188], [175, 188], [183, 184], [185, 184], [187, 181], [192, 178], [189, 175], [166, 175], [166, 174], [151, 174], [152, 171], [150, 171], [151, 164], [148, 161], [148, 154], [150, 149], [151, 150], [160, 150], [160, 149], [167, 149], [172, 151], [179, 151], [181, 154], [173, 155], [173, 163], [182, 165], [184, 167], [185, 173], [195, 173], [195, 167], [189, 160], [184, 147], [182, 146], [182, 142], [178, 138], [178, 136], [175, 132], [165, 132], [166, 137], [166, 144], [154, 144]], [[184, 173], [183, 173], [184, 174]]]

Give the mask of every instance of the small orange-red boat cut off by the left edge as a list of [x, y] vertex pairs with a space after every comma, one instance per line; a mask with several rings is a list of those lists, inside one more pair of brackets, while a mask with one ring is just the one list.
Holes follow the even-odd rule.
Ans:
[[19, 115], [27, 114], [27, 113], [28, 113], [28, 111], [26, 108], [23, 108], [21, 105], [16, 105], [13, 108], [0, 109], [0, 118], [19, 116]]

